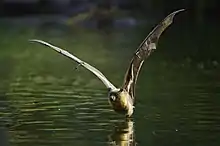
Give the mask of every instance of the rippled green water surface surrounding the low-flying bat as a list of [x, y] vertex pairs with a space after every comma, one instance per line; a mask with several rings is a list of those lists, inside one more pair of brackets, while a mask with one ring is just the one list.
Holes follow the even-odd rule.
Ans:
[[[171, 29], [143, 65], [135, 113], [126, 121], [111, 109], [105, 86], [93, 74], [82, 67], [76, 70], [74, 62], [27, 40], [43, 39], [65, 48], [120, 86], [145, 29], [106, 35], [81, 28], [12, 26], [2, 26], [0, 34], [1, 145], [220, 144], [219, 66], [194, 62], [181, 53], [181, 59], [173, 60], [175, 53], [167, 44], [178, 36], [172, 36]], [[183, 48], [180, 42], [174, 46]]]

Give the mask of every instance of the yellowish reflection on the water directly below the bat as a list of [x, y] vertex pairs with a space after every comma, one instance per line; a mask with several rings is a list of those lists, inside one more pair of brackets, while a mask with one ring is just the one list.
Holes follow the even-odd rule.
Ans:
[[111, 146], [135, 146], [134, 122], [132, 119], [115, 123], [112, 134], [109, 135]]

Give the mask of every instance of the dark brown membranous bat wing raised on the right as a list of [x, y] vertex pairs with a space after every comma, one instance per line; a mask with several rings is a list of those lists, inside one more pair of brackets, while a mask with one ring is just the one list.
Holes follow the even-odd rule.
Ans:
[[129, 68], [125, 74], [124, 84], [122, 86], [134, 100], [135, 84], [139, 71], [141, 69], [144, 60], [156, 49], [157, 42], [163, 31], [173, 22], [175, 14], [183, 11], [183, 9], [175, 11], [168, 15], [163, 21], [161, 21], [154, 29], [149, 33], [149, 35], [144, 39], [136, 50]]

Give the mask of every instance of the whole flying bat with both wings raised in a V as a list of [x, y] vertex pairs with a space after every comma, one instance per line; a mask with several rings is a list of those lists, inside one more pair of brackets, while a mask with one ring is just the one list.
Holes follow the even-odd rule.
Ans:
[[86, 69], [95, 74], [109, 89], [108, 97], [113, 109], [118, 113], [122, 113], [127, 117], [130, 117], [134, 110], [135, 85], [141, 66], [144, 63], [144, 60], [156, 49], [160, 35], [173, 22], [175, 14], [181, 11], [183, 10], [178, 10], [168, 15], [153, 29], [153, 31], [150, 32], [150, 34], [140, 44], [130, 62], [128, 70], [125, 74], [124, 84], [121, 88], [116, 88], [98, 69], [80, 60], [69, 52], [41, 40], [30, 41], [38, 42], [51, 47], [55, 51], [76, 61], [79, 65], [84, 66]]

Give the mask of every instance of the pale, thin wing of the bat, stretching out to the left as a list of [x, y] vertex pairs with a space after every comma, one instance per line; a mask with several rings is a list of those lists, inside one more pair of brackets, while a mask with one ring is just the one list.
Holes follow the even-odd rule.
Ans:
[[75, 62], [77, 62], [79, 65], [82, 65], [84, 66], [86, 69], [88, 69], [89, 71], [91, 71], [93, 74], [95, 74], [104, 84], [105, 86], [109, 89], [109, 90], [116, 90], [116, 87], [98, 70], [96, 69], [95, 67], [89, 65], [88, 63], [80, 60], [79, 58], [77, 58], [76, 56], [74, 56], [73, 54], [70, 54], [69, 52], [59, 48], [59, 47], [56, 47], [56, 46], [53, 46], [47, 42], [44, 42], [42, 40], [36, 40], [36, 39], [32, 39], [32, 40], [29, 40], [31, 42], [37, 42], [37, 43], [40, 43], [40, 44], [43, 44], [43, 45], [46, 45], [50, 48], [52, 48], [53, 50], [59, 52], [60, 54], [74, 60]]

